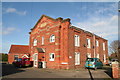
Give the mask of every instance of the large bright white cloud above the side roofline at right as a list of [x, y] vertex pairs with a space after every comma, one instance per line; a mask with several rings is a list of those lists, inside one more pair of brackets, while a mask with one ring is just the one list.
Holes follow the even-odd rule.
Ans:
[[78, 22], [75, 24], [84, 30], [95, 33], [104, 38], [109, 38], [109, 36], [118, 34], [118, 16], [113, 15], [111, 17], [93, 17], [85, 22]]

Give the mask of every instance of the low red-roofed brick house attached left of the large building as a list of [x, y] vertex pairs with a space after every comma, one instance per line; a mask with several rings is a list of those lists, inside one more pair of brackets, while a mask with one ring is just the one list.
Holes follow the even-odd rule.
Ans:
[[13, 61], [18, 58], [29, 58], [29, 46], [28, 45], [11, 45], [8, 53], [8, 63], [12, 64]]

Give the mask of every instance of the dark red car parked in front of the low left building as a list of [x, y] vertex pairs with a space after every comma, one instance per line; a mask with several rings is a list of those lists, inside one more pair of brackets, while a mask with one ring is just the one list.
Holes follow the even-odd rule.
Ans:
[[12, 63], [16, 67], [27, 67], [32, 66], [33, 62], [30, 61], [30, 58], [18, 58], [18, 60]]

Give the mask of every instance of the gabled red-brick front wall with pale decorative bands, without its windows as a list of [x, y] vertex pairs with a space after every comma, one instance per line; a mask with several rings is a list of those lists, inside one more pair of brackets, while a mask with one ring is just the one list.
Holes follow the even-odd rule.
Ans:
[[[41, 25], [47, 23], [46, 26]], [[30, 34], [30, 53], [31, 60], [33, 60], [33, 54], [38, 53], [38, 59], [41, 59], [40, 55], [44, 55], [44, 61], [47, 62], [47, 68], [59, 68], [60, 64], [60, 25], [58, 21], [53, 21], [46, 17], [43, 17], [38, 22], [36, 27]], [[43, 27], [42, 27], [43, 26]], [[50, 36], [55, 35], [55, 42], [50, 42]], [[42, 45], [42, 37], [44, 37], [44, 44]], [[33, 46], [34, 39], [37, 39], [37, 46]], [[39, 53], [36, 47], [45, 49], [45, 53]], [[55, 53], [55, 61], [50, 61], [50, 53]]]

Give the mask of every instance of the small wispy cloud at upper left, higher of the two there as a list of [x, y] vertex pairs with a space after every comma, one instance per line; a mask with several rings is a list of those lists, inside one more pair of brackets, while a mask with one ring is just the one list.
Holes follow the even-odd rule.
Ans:
[[18, 15], [26, 15], [26, 11], [18, 11], [17, 9], [15, 8], [6, 8], [6, 9], [3, 9], [4, 13], [16, 13]]

